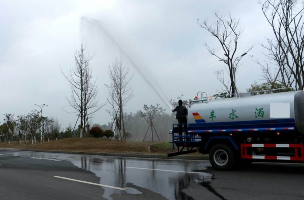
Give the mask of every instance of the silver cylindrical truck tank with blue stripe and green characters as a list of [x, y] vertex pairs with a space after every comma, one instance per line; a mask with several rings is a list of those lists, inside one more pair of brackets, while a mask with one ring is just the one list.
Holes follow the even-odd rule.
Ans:
[[295, 127], [304, 134], [303, 91], [246, 94], [193, 102], [188, 109], [189, 130]]

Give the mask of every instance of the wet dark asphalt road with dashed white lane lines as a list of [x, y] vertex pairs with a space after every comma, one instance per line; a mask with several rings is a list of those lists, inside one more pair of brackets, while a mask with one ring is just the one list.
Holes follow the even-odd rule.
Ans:
[[304, 199], [303, 164], [221, 172], [208, 161], [9, 150], [0, 164], [0, 199]]

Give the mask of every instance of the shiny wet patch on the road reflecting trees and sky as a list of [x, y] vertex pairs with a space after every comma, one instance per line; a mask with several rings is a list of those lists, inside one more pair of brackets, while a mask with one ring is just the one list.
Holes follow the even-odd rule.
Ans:
[[[193, 199], [183, 192], [190, 184], [198, 184], [200, 187], [215, 192], [212, 191], [210, 186], [212, 174], [202, 172], [209, 166], [209, 162], [22, 151], [12, 151], [10, 154], [13, 156], [68, 160], [75, 166], [94, 173], [100, 178], [99, 184], [126, 188], [126, 190], [103, 188], [103, 197], [107, 199], [116, 199], [121, 195], [129, 199], [133, 196], [142, 195], [147, 190], [156, 195], [155, 199]], [[217, 196], [221, 198], [221, 196]]]

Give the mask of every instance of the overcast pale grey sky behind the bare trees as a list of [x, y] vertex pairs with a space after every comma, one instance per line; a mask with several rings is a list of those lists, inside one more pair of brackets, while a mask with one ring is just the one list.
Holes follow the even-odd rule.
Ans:
[[[222, 51], [218, 41], [196, 22], [197, 18], [209, 18], [212, 22], [212, 11], [223, 15], [230, 12], [240, 18], [244, 32], [238, 43], [239, 55], [254, 45], [237, 74], [237, 88], [246, 91], [254, 81], [261, 82], [261, 68], [249, 55], [264, 60], [260, 44], [271, 36], [258, 1], [0, 0], [0, 114], [26, 114], [40, 110], [34, 104], [45, 103], [49, 106], [43, 108], [43, 116], [57, 118], [64, 127], [74, 126], [77, 117], [62, 109], [68, 105], [65, 96], [70, 95], [70, 87], [60, 67], [65, 72], [74, 67], [73, 55], [81, 41], [86, 44], [87, 53], [95, 53], [91, 67], [97, 79], [100, 104], [107, 99], [104, 84], [109, 84], [108, 65], [120, 57], [134, 75], [131, 81], [134, 97], [126, 112], [156, 103], [170, 110], [130, 59], [164, 93], [164, 98], [175, 99], [183, 94], [185, 99], [192, 99], [198, 91], [213, 95], [222, 87], [215, 71], [224, 65], [203, 44], [207, 42], [216, 52]], [[98, 23], [81, 19], [94, 19]], [[105, 110], [106, 107], [95, 113], [92, 122], [110, 121]]]

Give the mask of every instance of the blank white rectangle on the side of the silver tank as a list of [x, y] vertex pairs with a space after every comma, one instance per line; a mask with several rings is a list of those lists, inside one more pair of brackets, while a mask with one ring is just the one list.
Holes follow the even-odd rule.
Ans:
[[270, 118], [290, 118], [289, 102], [270, 103]]

